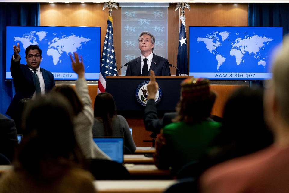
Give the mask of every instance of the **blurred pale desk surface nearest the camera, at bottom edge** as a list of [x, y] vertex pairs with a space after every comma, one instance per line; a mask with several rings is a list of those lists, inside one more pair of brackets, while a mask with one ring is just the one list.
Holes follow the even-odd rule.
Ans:
[[93, 184], [98, 193], [161, 193], [177, 180], [97, 180]]

